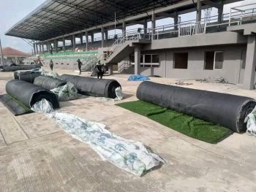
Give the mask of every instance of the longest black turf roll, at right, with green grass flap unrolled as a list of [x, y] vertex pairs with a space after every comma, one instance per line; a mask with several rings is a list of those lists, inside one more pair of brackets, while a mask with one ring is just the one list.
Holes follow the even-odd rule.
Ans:
[[201, 91], [142, 82], [137, 90], [140, 100], [183, 112], [202, 120], [217, 123], [233, 131], [246, 130], [244, 118], [256, 105], [254, 99], [225, 93]]

